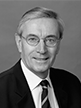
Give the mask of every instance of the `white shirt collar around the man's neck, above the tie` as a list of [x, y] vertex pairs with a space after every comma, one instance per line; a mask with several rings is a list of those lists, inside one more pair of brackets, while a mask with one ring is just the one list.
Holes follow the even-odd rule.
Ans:
[[[22, 60], [21, 60], [21, 67], [22, 67], [23, 73], [25, 75], [25, 78], [28, 82], [28, 85], [30, 87], [30, 90], [32, 91], [36, 86], [38, 86], [38, 84], [42, 81], [42, 79], [40, 77], [38, 77], [37, 75], [35, 75], [33, 72], [31, 72], [24, 65]], [[47, 78], [45, 78], [45, 79], [48, 80], [48, 82], [50, 83], [49, 74], [48, 74]]]

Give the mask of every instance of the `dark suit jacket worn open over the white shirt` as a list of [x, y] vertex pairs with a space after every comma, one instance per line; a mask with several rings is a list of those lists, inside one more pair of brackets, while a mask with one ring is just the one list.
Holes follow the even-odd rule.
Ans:
[[[59, 108], [81, 108], [79, 80], [67, 71], [53, 68], [50, 70]], [[0, 108], [35, 108], [20, 61], [0, 74]]]

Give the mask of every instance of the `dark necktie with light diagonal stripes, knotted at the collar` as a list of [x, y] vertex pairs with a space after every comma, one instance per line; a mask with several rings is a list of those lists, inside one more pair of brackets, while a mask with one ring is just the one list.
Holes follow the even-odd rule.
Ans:
[[48, 85], [49, 82], [47, 80], [43, 80], [41, 83], [42, 86], [42, 95], [41, 95], [41, 108], [50, 108], [50, 103], [48, 100]]

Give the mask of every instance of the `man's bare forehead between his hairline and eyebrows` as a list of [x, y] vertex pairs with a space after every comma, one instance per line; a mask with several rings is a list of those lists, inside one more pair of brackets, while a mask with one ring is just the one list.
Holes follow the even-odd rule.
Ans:
[[52, 18], [39, 18], [26, 21], [22, 25], [24, 35], [37, 34], [49, 35], [58, 32], [58, 22]]

